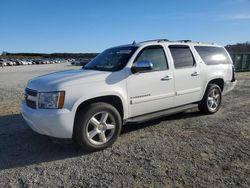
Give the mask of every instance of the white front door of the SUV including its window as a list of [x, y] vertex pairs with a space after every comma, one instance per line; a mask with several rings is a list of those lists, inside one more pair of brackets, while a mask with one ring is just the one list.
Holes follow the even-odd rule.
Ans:
[[142, 49], [135, 62], [150, 61], [153, 70], [131, 74], [127, 79], [130, 116], [135, 117], [174, 105], [174, 77], [163, 46]]

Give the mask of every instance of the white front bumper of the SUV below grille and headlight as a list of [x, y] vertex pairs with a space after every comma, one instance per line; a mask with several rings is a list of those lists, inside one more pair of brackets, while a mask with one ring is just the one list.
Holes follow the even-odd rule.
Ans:
[[72, 138], [74, 116], [67, 109], [32, 109], [22, 102], [22, 116], [35, 132], [56, 138]]

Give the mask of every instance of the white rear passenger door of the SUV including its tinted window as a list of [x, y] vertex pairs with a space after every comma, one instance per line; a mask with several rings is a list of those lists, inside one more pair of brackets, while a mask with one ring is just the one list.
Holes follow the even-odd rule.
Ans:
[[175, 106], [197, 102], [201, 94], [200, 67], [188, 45], [170, 45], [174, 65]]

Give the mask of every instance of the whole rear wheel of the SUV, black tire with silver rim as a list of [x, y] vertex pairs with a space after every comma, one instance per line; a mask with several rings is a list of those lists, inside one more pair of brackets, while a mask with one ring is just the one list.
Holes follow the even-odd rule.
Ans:
[[204, 114], [214, 114], [220, 109], [221, 101], [221, 88], [216, 84], [209, 84], [198, 108]]

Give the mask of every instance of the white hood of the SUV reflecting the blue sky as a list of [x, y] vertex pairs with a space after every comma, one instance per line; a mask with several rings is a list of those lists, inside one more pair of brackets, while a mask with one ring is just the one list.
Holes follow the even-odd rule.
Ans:
[[28, 82], [28, 88], [37, 91], [53, 91], [65, 86], [105, 81], [111, 72], [95, 70], [67, 70], [36, 77]]

